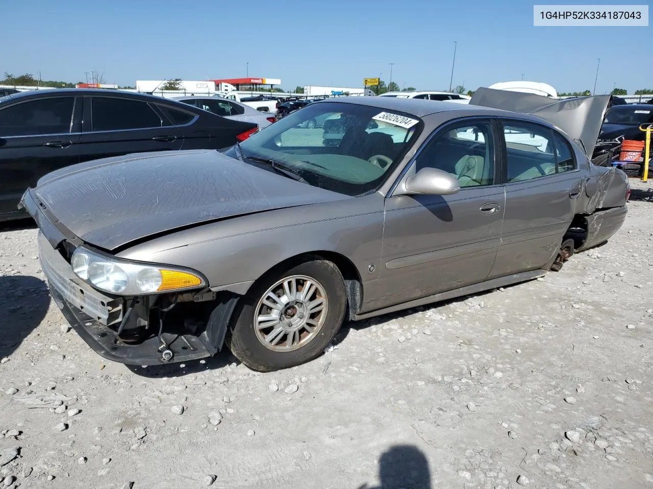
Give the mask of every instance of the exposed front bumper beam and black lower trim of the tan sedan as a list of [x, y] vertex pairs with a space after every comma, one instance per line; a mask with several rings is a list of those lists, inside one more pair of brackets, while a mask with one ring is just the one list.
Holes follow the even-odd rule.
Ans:
[[[110, 325], [118, 325], [123, 318], [124, 301], [109, 297], [91, 288], [78, 278], [71, 265], [39, 232], [39, 258], [48, 280], [50, 293], [72, 328], [102, 357], [129, 365], [159, 365], [163, 348], [157, 336], [139, 344], [123, 342]], [[163, 333], [161, 338], [172, 351], [172, 361], [182, 362], [212, 356], [217, 349], [208, 346], [202, 336]]]

